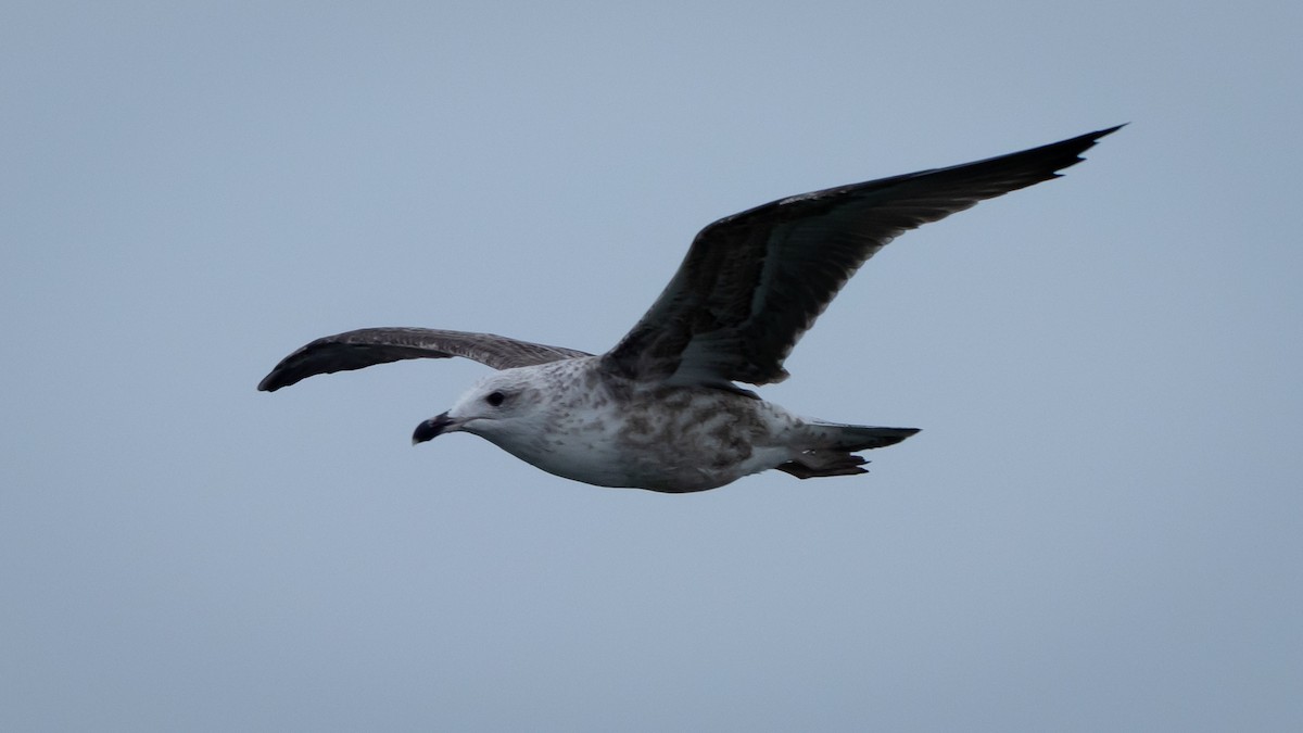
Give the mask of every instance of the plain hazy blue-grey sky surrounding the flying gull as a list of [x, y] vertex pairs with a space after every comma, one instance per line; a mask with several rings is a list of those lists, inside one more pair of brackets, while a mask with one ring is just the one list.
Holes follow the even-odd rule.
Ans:
[[[5, 4], [0, 729], [1303, 726], [1303, 9], [1221, 5]], [[464, 361], [254, 390], [602, 351], [718, 217], [1124, 121], [765, 389], [924, 429], [868, 476], [413, 449]]]

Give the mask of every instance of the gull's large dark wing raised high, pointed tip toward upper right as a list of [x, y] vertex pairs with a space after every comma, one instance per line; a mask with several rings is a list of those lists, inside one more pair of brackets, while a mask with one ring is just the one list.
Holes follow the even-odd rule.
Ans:
[[[1121, 127], [1121, 125], [1119, 125]], [[625, 377], [764, 385], [869, 257], [900, 233], [1081, 160], [1110, 128], [976, 163], [774, 201], [701, 230], [674, 279], [602, 357]]]

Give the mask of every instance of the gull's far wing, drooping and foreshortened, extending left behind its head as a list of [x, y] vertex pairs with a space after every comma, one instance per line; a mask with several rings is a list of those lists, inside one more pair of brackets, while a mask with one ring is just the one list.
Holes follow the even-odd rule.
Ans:
[[511, 369], [592, 355], [573, 348], [543, 346], [494, 334], [435, 329], [358, 329], [319, 338], [294, 351], [258, 382], [258, 389], [276, 391], [313, 374], [361, 369], [404, 359], [452, 356], [473, 359], [494, 369]]

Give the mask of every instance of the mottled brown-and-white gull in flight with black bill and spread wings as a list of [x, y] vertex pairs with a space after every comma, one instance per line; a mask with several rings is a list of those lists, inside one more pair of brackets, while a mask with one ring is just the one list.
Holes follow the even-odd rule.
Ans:
[[1117, 129], [792, 196], [719, 219], [697, 233], [642, 320], [601, 356], [493, 334], [361, 329], [294, 351], [258, 389], [461, 356], [499, 370], [417, 425], [413, 443], [466, 432], [558, 476], [671, 493], [714, 489], [769, 468], [799, 479], [864, 473], [857, 451], [919, 430], [801, 417], [736, 382], [784, 380], [783, 360], [796, 342], [894, 237], [1058, 177]]

